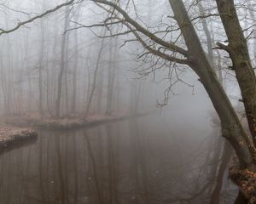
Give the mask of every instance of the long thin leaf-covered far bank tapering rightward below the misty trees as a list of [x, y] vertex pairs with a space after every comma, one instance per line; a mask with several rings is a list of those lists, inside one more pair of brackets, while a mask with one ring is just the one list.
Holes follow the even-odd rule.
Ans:
[[[140, 115], [143, 116], [143, 115]], [[69, 130], [81, 127], [92, 127], [101, 125], [108, 122], [117, 122], [131, 118], [130, 115], [122, 116], [87, 116], [82, 117], [65, 117], [55, 119], [53, 117], [40, 117], [40, 116], [13, 116], [5, 120], [6, 123], [18, 127], [36, 127], [51, 130]]]

